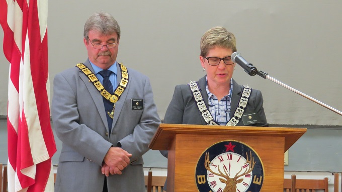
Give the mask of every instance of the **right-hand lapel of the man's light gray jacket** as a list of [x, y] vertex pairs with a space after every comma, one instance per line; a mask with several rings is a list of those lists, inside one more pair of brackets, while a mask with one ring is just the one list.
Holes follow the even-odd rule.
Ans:
[[[112, 125], [112, 130], [113, 130], [113, 127], [115, 126], [118, 118], [119, 118], [119, 115], [121, 113], [121, 110], [122, 110], [122, 107], [125, 103], [125, 100], [126, 100], [126, 97], [127, 97], [127, 93], [129, 91], [129, 88], [130, 88], [130, 84], [132, 82], [132, 79], [133, 77], [130, 76], [129, 74], [129, 70], [127, 69], [127, 72], [128, 72], [128, 83], [126, 85], [126, 88], [124, 90], [124, 92], [122, 92], [119, 100], [115, 103], [115, 110], [114, 110], [114, 118], [113, 118], [113, 125]], [[121, 82], [121, 78], [122, 78], [122, 75], [121, 75], [121, 68], [120, 68], [120, 65], [117, 64], [117, 82], [118, 82], [118, 85], [120, 84]], [[116, 89], [116, 88], [115, 88]]]

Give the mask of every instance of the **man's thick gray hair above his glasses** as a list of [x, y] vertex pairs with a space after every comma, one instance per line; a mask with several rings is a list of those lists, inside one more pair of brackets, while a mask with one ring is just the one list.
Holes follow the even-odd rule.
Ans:
[[[87, 39], [88, 32], [96, 30], [104, 35], [110, 35], [113, 33], [118, 34], [118, 40], [120, 39], [120, 26], [118, 22], [106, 12], [97, 12], [89, 17], [87, 22], [84, 24], [83, 36]], [[87, 40], [88, 41], [88, 40]]]

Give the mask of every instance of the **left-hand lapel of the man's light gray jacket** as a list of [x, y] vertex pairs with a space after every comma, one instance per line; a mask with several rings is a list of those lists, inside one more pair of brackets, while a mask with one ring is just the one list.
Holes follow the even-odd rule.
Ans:
[[[94, 73], [94, 69], [92, 68], [92, 65], [90, 64], [89, 60], [85, 61], [83, 63], [85, 66], [87, 66], [93, 73]], [[81, 78], [81, 80], [84, 82], [85, 86], [87, 87], [90, 95], [93, 98], [93, 101], [96, 105], [96, 108], [101, 116], [101, 119], [105, 125], [105, 127], [107, 128], [108, 131], [108, 123], [107, 123], [107, 117], [106, 117], [106, 110], [105, 110], [105, 106], [103, 104], [103, 99], [102, 99], [102, 95], [100, 94], [100, 92], [96, 89], [96, 87], [94, 86], [93, 83], [89, 82], [88, 77], [82, 72], [79, 72], [79, 77]]]

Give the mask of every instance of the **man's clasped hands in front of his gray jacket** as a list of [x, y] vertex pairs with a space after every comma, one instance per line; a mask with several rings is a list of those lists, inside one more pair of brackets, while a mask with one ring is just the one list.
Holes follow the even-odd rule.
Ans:
[[102, 164], [102, 174], [109, 176], [110, 174], [122, 174], [122, 170], [129, 164], [132, 154], [120, 147], [109, 148]]

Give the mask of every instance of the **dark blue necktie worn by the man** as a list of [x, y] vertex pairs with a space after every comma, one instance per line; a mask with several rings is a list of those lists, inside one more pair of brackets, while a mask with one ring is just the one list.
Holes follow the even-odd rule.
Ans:
[[[114, 92], [113, 91], [113, 85], [112, 85], [111, 81], [109, 80], [109, 76], [113, 72], [109, 71], [109, 70], [103, 70], [103, 71], [100, 71], [99, 73], [103, 77], [103, 83], [102, 83], [103, 87], [110, 94], [113, 94], [113, 92]], [[105, 109], [106, 109], [106, 117], [107, 117], [107, 122], [108, 122], [108, 130], [109, 130], [109, 134], [111, 134], [113, 119], [109, 116], [109, 113], [112, 112], [114, 103], [111, 103], [109, 100], [107, 100], [104, 97], [102, 97], [102, 98], [103, 98], [103, 103], [104, 103]]]

